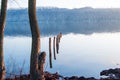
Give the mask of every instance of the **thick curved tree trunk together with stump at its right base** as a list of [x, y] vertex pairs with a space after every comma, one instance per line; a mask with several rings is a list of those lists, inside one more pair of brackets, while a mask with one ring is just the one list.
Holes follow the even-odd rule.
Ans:
[[[32, 48], [31, 48], [31, 58], [30, 58], [30, 80], [44, 80], [43, 75], [43, 59], [45, 58], [45, 53], [41, 54], [40, 51], [40, 30], [38, 26], [37, 16], [36, 16], [36, 0], [28, 0], [28, 14], [30, 29], [32, 33]], [[39, 57], [40, 60], [38, 59]], [[41, 62], [41, 63], [39, 63]]]

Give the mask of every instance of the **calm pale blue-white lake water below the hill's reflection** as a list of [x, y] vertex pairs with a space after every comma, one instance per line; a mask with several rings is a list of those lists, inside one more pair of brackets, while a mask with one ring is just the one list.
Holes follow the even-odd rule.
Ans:
[[[120, 33], [94, 33], [91, 35], [63, 35], [57, 60], [49, 68], [48, 40], [41, 38], [41, 51], [47, 52], [45, 70], [64, 76], [100, 77], [100, 71], [120, 67]], [[7, 72], [29, 73], [31, 37], [5, 37], [4, 53]]]

